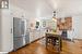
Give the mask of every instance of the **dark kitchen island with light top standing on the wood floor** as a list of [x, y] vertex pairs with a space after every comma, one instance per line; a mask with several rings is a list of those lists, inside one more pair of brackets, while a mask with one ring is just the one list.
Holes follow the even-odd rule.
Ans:
[[60, 52], [62, 48], [61, 36], [57, 32], [46, 32], [46, 49], [48, 44], [57, 46], [57, 51]]

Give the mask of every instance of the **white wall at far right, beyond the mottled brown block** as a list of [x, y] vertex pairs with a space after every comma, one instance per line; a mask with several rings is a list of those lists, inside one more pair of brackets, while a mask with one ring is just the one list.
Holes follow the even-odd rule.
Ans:
[[73, 16], [74, 39], [82, 39], [82, 14]]

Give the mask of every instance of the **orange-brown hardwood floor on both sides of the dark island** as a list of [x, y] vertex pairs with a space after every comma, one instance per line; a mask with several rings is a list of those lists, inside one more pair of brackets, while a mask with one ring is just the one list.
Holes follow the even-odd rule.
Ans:
[[[46, 49], [45, 39], [42, 39], [9, 54], [57, 54], [57, 53], [51, 49], [51, 46], [49, 46], [49, 49]], [[82, 54], [82, 41], [74, 40], [74, 42], [71, 42], [63, 40], [62, 52], [60, 54]]]

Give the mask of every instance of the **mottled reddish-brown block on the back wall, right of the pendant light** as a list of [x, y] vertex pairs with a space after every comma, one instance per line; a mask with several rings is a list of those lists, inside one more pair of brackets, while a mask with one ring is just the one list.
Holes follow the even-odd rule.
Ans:
[[71, 30], [72, 29], [72, 17], [65, 17], [65, 21], [62, 22], [61, 18], [58, 18], [57, 27], [59, 30]]

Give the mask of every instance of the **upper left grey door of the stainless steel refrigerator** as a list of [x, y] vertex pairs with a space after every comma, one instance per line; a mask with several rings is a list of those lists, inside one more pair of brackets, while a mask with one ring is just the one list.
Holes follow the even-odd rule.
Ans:
[[21, 18], [13, 18], [13, 37], [21, 37]]

